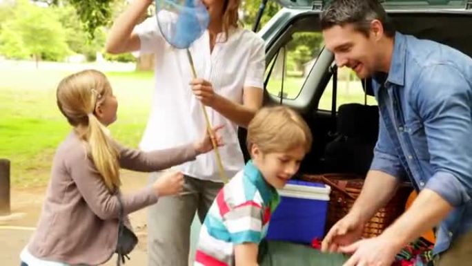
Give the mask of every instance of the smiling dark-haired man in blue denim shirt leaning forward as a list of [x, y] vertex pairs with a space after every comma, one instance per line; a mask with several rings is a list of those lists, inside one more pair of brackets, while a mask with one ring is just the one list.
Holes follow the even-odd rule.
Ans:
[[[472, 59], [395, 32], [377, 0], [334, 0], [321, 23], [337, 66], [372, 77], [380, 108], [362, 193], [322, 250], [353, 253], [345, 265], [391, 265], [404, 245], [436, 227], [434, 252], [446, 251], [472, 229]], [[411, 208], [382, 235], [360, 240], [403, 180], [420, 191]]]

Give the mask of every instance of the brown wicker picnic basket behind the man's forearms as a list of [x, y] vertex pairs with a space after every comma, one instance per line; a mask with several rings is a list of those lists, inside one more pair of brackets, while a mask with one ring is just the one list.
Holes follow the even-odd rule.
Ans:
[[[326, 231], [328, 231], [338, 220], [343, 218], [353, 207], [355, 199], [359, 196], [364, 178], [359, 175], [346, 173], [326, 173], [322, 175], [303, 175], [302, 180], [309, 182], [322, 182], [331, 187], [328, 214], [326, 217]], [[362, 236], [370, 238], [382, 234], [391, 223], [400, 216], [405, 209], [412, 188], [408, 184], [402, 184], [390, 202], [380, 209], [375, 216], [369, 220]]]

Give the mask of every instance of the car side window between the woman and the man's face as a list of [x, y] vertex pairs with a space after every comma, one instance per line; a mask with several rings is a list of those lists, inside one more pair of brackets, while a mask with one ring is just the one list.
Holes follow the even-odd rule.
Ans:
[[296, 99], [323, 47], [320, 32], [295, 32], [266, 69], [268, 93]]

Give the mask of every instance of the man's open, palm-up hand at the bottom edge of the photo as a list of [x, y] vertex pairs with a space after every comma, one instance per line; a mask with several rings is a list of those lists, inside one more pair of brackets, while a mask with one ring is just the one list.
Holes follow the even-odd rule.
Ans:
[[390, 266], [400, 249], [394, 239], [377, 236], [340, 247], [339, 251], [353, 254], [343, 266]]

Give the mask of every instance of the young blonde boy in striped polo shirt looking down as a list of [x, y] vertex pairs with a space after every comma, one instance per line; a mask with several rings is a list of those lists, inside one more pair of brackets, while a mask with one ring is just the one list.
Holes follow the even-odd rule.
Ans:
[[259, 243], [286, 182], [311, 148], [311, 131], [295, 111], [262, 108], [248, 126], [250, 160], [219, 191], [201, 226], [195, 266], [257, 265]]

